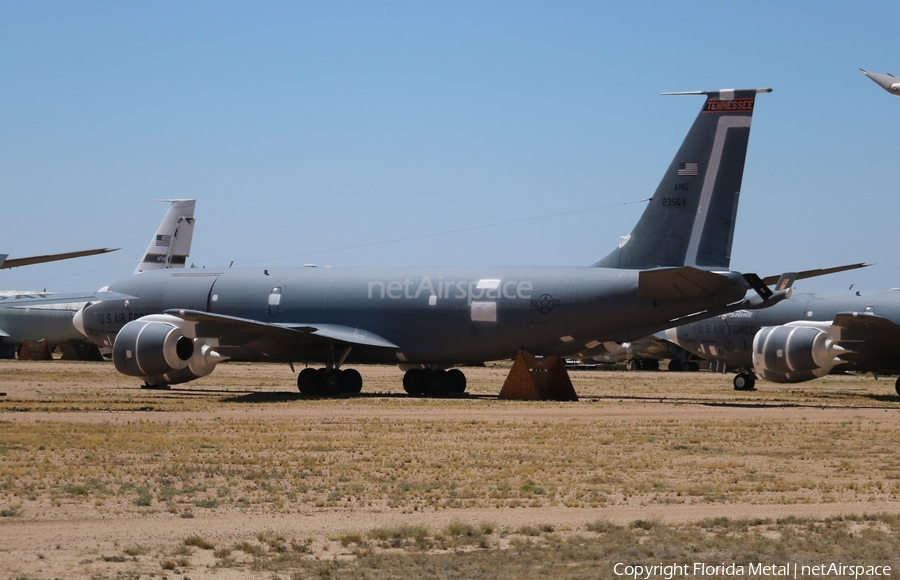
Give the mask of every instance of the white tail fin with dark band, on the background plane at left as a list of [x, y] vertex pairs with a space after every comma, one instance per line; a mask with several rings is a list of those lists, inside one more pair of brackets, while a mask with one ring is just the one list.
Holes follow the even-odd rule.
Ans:
[[195, 199], [161, 199], [172, 204], [156, 235], [150, 240], [147, 251], [134, 273], [160, 268], [184, 268], [191, 253], [194, 237]]

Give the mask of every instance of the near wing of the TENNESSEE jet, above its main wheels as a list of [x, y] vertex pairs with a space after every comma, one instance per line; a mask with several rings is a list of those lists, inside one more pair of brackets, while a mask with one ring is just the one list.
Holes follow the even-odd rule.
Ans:
[[218, 337], [221, 346], [241, 346], [268, 354], [330, 345], [399, 348], [377, 334], [338, 324], [268, 324], [199, 310], [167, 310], [165, 314], [196, 323], [198, 337]]

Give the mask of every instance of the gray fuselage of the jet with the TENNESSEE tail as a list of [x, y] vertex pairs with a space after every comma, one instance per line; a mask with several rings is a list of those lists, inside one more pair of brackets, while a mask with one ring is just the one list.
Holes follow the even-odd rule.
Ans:
[[[111, 284], [111, 291], [135, 298], [91, 305], [83, 324], [106, 345], [131, 320], [178, 309], [287, 328], [340, 325], [397, 347], [354, 346], [348, 362], [451, 365], [512, 358], [519, 349], [577, 354], [597, 341], [638, 338], [711, 304], [738, 301], [746, 288], [657, 303], [638, 296], [638, 276], [594, 267], [159, 270]], [[298, 350], [240, 332], [217, 336], [216, 350], [232, 360], [335, 357], [334, 347], [320, 344]]]

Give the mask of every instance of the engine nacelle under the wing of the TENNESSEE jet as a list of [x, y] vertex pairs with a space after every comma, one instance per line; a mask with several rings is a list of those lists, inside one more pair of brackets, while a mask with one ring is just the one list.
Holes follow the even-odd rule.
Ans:
[[145, 316], [122, 327], [113, 343], [116, 370], [151, 384], [177, 384], [205, 377], [226, 360], [189, 323], [166, 314]]

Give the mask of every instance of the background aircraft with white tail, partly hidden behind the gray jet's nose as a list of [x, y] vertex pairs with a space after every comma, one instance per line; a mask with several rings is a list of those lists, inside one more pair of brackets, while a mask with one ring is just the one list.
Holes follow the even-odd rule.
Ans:
[[[183, 268], [190, 254], [194, 230], [193, 199], [161, 200], [169, 210], [142, 254], [137, 272], [159, 268]], [[67, 342], [84, 341], [72, 318], [89, 300], [115, 297], [107, 292], [0, 293], [0, 358], [12, 358], [15, 346], [26, 340], [46, 340], [49, 348]], [[124, 298], [124, 296], [122, 296]]]

